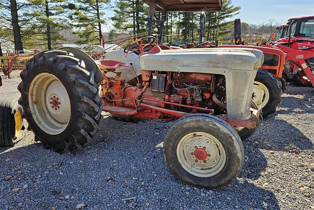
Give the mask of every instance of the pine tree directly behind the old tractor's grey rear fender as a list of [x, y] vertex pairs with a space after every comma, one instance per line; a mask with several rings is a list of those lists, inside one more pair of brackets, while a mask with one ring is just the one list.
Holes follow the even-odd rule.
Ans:
[[70, 20], [81, 38], [78, 44], [99, 44], [103, 37], [102, 24], [109, 0], [76, 0], [69, 4]]

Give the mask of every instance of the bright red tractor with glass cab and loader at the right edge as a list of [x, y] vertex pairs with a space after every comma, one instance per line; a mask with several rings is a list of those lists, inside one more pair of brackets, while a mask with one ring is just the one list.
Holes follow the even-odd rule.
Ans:
[[286, 54], [284, 76], [296, 85], [314, 86], [314, 16], [288, 20], [288, 34], [270, 47]]

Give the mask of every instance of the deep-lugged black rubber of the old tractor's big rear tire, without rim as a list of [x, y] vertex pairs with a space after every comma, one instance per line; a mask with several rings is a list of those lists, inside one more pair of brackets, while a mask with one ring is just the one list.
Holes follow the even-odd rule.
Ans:
[[[92, 71], [80, 66], [78, 59], [61, 50], [40, 52], [26, 62], [26, 68], [20, 74], [19, 103], [23, 107], [28, 129], [35, 134], [35, 141], [41, 141], [46, 148], [62, 152], [81, 148], [93, 138], [101, 120], [104, 102], [99, 97], [99, 84], [94, 82]], [[37, 74], [44, 72], [57, 77], [70, 98], [70, 121], [65, 130], [57, 135], [43, 131], [29, 108], [29, 86]]]

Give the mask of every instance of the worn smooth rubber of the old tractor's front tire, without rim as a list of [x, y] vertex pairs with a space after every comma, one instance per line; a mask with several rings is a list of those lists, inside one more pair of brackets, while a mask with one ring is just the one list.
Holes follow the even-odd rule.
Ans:
[[[206, 132], [217, 138], [226, 151], [226, 164], [216, 175], [201, 178], [188, 173], [177, 158], [178, 142], [188, 133]], [[230, 183], [240, 173], [244, 162], [242, 141], [234, 128], [222, 119], [206, 114], [192, 114], [177, 120], [169, 129], [164, 143], [164, 156], [177, 179], [195, 187], [216, 188]]]

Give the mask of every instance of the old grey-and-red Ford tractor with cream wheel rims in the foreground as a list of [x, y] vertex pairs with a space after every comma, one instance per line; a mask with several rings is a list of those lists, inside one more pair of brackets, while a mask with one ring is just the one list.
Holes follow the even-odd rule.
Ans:
[[[168, 11], [180, 5], [196, 10], [205, 4], [208, 10], [221, 9], [221, 0], [193, 2], [195, 7], [180, 0], [160, 0], [157, 5]], [[175, 121], [163, 144], [175, 176], [197, 187], [226, 185], [243, 166], [241, 138], [253, 135], [262, 121], [252, 102], [262, 51], [163, 50], [151, 45], [152, 41], [126, 49], [127, 54], [143, 50], [136, 55], [141, 78], [136, 75], [135, 84], [117, 70], [129, 63], [95, 62], [76, 48], [36, 54], [26, 63], [18, 86], [29, 130], [45, 147], [71, 151], [96, 135], [103, 110], [120, 117]], [[150, 50], [144, 52], [146, 48]]]

